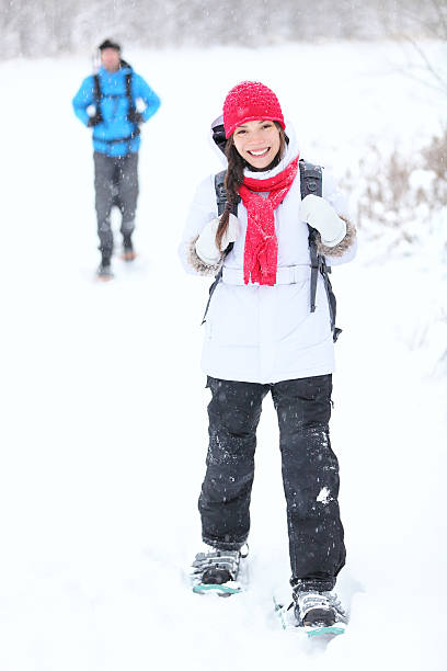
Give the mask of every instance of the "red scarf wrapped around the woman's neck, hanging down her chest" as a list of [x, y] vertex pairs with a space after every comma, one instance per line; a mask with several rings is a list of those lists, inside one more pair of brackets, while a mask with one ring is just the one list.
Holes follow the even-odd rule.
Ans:
[[[244, 178], [239, 193], [248, 212], [243, 281], [274, 286], [278, 264], [278, 241], [275, 232], [276, 207], [284, 201], [298, 172], [298, 160], [290, 161], [279, 174], [266, 180]], [[257, 192], [268, 191], [264, 198]]]

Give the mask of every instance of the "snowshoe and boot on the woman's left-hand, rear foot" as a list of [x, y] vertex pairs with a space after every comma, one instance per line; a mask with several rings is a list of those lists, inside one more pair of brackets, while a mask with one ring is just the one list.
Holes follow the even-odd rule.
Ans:
[[[247, 546], [243, 546], [247, 548]], [[197, 553], [193, 561], [191, 580], [193, 592], [205, 594], [216, 592], [219, 596], [230, 596], [242, 591], [238, 582], [240, 560], [247, 553], [237, 550], [219, 550], [215, 547]]]

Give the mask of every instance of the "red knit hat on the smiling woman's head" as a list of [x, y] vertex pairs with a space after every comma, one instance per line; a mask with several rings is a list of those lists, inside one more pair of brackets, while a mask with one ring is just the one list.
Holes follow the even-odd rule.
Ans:
[[225, 135], [230, 137], [238, 126], [248, 121], [277, 121], [283, 128], [283, 112], [275, 93], [260, 81], [242, 81], [231, 89], [224, 103]]

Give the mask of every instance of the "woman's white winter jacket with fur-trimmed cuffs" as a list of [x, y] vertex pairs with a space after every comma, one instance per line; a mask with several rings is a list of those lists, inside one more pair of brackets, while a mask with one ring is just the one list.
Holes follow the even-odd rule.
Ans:
[[[245, 174], [266, 179], [284, 170], [298, 155], [295, 134], [289, 137], [280, 163], [267, 172]], [[217, 217], [215, 175], [204, 180], [195, 193], [180, 246], [187, 272], [214, 275], [218, 268], [207, 266], [195, 253], [202, 229]], [[333, 179], [323, 171], [323, 197], [347, 220], [345, 238], [335, 248], [323, 248], [328, 264], [351, 261], [355, 255], [355, 229], [348, 224], [347, 204]], [[243, 284], [243, 252], [247, 208], [238, 207], [240, 236], [224, 261], [222, 281], [213, 295], [205, 325], [203, 371], [211, 377], [251, 383], [325, 375], [334, 369], [328, 297], [319, 273], [317, 308], [310, 311], [310, 253], [308, 226], [299, 218], [299, 172], [283, 203], [275, 209], [278, 240], [278, 270], [275, 286]], [[204, 295], [205, 300], [206, 294]]]

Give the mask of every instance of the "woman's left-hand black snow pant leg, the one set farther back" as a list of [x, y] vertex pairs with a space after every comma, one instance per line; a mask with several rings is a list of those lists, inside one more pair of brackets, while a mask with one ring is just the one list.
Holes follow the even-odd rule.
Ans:
[[208, 377], [207, 469], [198, 500], [202, 536], [221, 549], [237, 549], [250, 531], [256, 428], [268, 385]]

